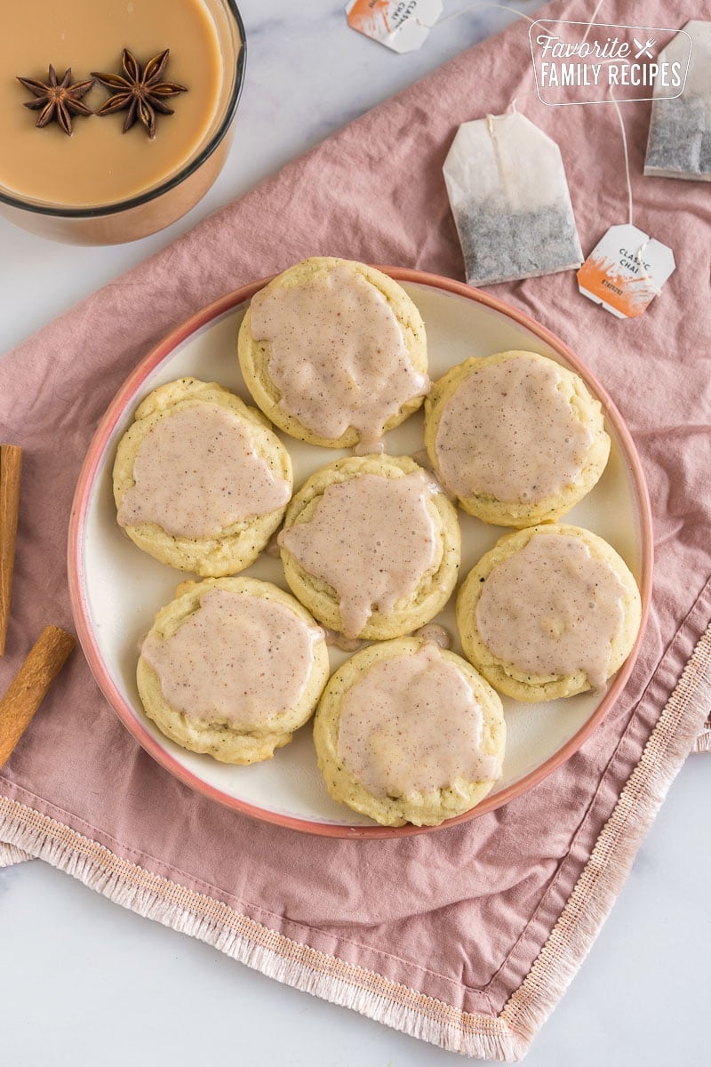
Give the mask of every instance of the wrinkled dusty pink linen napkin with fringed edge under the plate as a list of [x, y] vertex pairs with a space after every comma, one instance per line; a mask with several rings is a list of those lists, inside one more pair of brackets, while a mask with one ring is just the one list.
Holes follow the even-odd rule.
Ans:
[[[587, 6], [564, 0], [546, 15], [584, 19]], [[679, 26], [694, 16], [691, 2], [674, 6]], [[667, 10], [645, 0], [634, 18], [664, 23]], [[610, 0], [604, 17], [629, 21], [628, 6]], [[310, 254], [463, 277], [441, 164], [459, 123], [502, 112], [514, 95], [561, 147], [585, 252], [626, 221], [614, 110], [547, 108], [532, 89], [519, 22], [4, 359], [0, 440], [26, 452], [0, 687], [45, 622], [71, 627], [64, 556], [84, 452], [128, 371], [194, 310]], [[39, 856], [266, 974], [446, 1048], [524, 1054], [711, 705], [711, 203], [701, 184], [642, 177], [649, 105], [623, 110], [635, 222], [677, 260], [663, 293], [619, 322], [578, 294], [572, 272], [492, 289], [562, 336], [605, 384], [649, 482], [651, 615], [600, 728], [536, 789], [469, 824], [397, 841], [323, 840], [191, 793], [139, 748], [75, 654], [0, 771], [0, 862]]]

